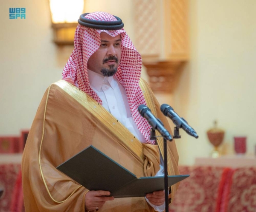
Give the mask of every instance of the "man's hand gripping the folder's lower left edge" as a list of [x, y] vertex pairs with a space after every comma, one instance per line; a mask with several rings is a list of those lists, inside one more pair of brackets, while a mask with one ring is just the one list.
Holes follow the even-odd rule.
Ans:
[[88, 211], [100, 209], [106, 201], [113, 200], [114, 197], [106, 197], [110, 195], [109, 191], [89, 191], [85, 195], [85, 209]]

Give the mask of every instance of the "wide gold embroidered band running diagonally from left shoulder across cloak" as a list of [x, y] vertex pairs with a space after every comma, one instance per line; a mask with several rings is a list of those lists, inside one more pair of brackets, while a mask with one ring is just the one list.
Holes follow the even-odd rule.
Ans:
[[122, 141], [122, 144], [126, 148], [130, 149], [131, 152], [134, 153], [134, 156], [144, 164], [145, 156], [143, 155], [142, 143], [124, 125], [122, 125], [121, 122], [118, 122], [118, 120], [116, 120], [116, 118], [112, 116], [102, 105], [65, 80], [59, 80], [54, 84], [72, 96], [93, 116], [99, 119], [99, 121], [108, 127], [108, 129], [114, 133], [120, 141]]

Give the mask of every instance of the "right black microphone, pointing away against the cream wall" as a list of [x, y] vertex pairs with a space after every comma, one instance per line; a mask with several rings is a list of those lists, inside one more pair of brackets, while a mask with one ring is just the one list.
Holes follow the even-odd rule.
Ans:
[[172, 119], [172, 122], [177, 126], [177, 128], [182, 128], [186, 131], [190, 136], [198, 138], [198, 135], [196, 134], [195, 130], [189, 126], [188, 122], [186, 122], [185, 119], [180, 118], [180, 116], [175, 113], [173, 108], [170, 105], [163, 104], [160, 107], [160, 110], [162, 111], [163, 115], [168, 116], [170, 119]]

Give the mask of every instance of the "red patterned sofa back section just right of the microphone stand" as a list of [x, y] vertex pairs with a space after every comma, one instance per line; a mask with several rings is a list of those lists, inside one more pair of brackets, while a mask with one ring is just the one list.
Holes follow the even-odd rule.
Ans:
[[231, 171], [222, 167], [179, 167], [190, 177], [180, 182], [171, 212], [219, 211], [225, 176]]

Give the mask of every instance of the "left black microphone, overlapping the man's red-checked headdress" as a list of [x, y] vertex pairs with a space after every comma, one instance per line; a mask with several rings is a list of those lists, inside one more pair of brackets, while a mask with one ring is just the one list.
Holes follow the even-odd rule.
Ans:
[[148, 123], [154, 130], [158, 130], [166, 140], [172, 141], [171, 134], [163, 127], [162, 122], [151, 113], [151, 110], [146, 105], [140, 105], [138, 110], [140, 115], [148, 120]]

